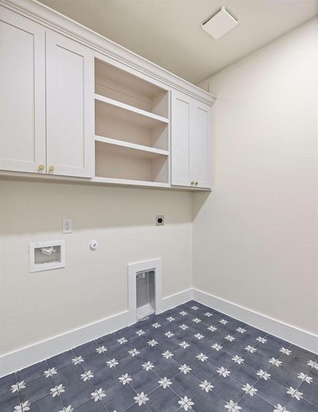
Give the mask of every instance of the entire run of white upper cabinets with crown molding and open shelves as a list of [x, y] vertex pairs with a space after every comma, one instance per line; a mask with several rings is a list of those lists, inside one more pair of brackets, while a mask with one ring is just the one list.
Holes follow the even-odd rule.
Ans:
[[214, 101], [38, 1], [0, 0], [0, 179], [209, 190]]

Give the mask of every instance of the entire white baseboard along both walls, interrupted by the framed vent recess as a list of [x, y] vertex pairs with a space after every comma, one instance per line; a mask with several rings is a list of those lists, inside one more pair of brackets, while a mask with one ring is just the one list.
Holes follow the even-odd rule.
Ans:
[[[191, 299], [228, 314], [242, 322], [248, 323], [255, 328], [264, 330], [264, 332], [278, 336], [285, 341], [304, 347], [306, 350], [318, 353], [317, 335], [287, 325], [276, 319], [271, 319], [264, 314], [243, 308], [242, 306], [238, 306], [224, 299], [210, 295], [209, 293], [205, 293], [202, 290], [190, 288], [182, 290], [179, 293], [174, 293], [174, 295], [164, 297], [159, 306], [160, 312], [184, 304]], [[125, 326], [130, 325], [130, 323], [131, 314], [126, 310], [106, 319], [102, 319], [101, 321], [71, 330], [65, 334], [60, 334], [45, 341], [34, 343], [34, 345], [4, 354], [0, 356], [0, 376], [5, 376], [13, 371], [17, 371], [23, 367], [43, 361], [43, 359], [65, 352], [72, 347], [82, 345], [82, 343], [89, 342], [92, 339], [124, 328]]]

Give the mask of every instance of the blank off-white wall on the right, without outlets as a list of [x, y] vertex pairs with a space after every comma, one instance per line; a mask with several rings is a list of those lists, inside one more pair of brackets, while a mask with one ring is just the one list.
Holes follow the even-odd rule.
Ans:
[[194, 287], [318, 331], [317, 19], [201, 84], [214, 191], [194, 195]]

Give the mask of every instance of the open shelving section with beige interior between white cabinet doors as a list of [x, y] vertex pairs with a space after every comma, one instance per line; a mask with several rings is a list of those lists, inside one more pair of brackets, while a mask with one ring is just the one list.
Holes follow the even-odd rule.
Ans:
[[169, 90], [96, 58], [94, 98], [94, 180], [169, 185]]

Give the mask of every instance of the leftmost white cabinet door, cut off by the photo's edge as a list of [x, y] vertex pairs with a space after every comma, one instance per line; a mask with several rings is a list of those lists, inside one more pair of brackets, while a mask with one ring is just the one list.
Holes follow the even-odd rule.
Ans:
[[45, 30], [0, 6], [0, 169], [44, 166]]

